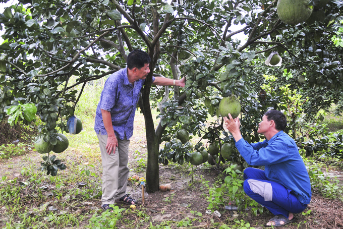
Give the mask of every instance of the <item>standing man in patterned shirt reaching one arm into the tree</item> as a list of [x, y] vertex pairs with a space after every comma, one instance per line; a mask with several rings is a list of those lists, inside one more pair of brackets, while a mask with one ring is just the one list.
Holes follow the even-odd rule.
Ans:
[[[136, 105], [150, 72], [149, 55], [133, 50], [127, 67], [113, 73], [106, 80], [96, 108], [94, 130], [99, 139], [102, 159], [102, 209], [112, 210], [109, 204], [122, 202], [137, 204], [126, 194], [129, 176], [129, 139], [133, 134]], [[185, 87], [185, 78], [172, 80], [152, 77], [152, 84]]]

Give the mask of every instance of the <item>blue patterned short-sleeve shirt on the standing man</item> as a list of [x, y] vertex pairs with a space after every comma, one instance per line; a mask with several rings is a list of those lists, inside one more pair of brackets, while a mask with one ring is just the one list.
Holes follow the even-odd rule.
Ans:
[[[152, 82], [155, 80], [152, 77]], [[129, 82], [127, 67], [108, 77], [101, 92], [96, 108], [94, 130], [97, 134], [107, 135], [103, 125], [101, 109], [110, 111], [113, 130], [117, 137], [130, 139], [133, 134], [133, 121], [137, 102], [145, 80], [137, 80], [134, 85]]]

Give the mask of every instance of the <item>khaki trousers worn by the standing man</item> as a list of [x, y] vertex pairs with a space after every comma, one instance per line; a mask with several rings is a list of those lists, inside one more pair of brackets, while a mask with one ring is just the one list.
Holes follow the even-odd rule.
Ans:
[[114, 204], [116, 199], [126, 194], [126, 186], [129, 177], [129, 144], [126, 137], [120, 140], [118, 137], [118, 147], [116, 153], [107, 154], [107, 135], [97, 134], [100, 145], [102, 160], [102, 204]]

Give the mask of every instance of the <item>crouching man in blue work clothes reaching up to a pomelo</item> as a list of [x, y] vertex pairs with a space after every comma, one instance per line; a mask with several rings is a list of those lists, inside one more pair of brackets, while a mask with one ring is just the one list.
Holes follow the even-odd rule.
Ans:
[[311, 200], [311, 184], [303, 159], [294, 140], [283, 132], [287, 125], [282, 112], [269, 110], [262, 117], [257, 133], [266, 138], [249, 144], [240, 131], [239, 118], [224, 117], [228, 131], [234, 136], [236, 147], [250, 165], [244, 170], [244, 191], [275, 216], [266, 226], [282, 226], [294, 221]]

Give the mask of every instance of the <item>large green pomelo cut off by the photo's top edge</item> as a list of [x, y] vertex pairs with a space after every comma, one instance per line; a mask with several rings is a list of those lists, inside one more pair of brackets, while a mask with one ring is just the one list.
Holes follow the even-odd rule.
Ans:
[[289, 25], [297, 25], [308, 19], [313, 11], [311, 0], [278, 0], [276, 5], [279, 19]]

